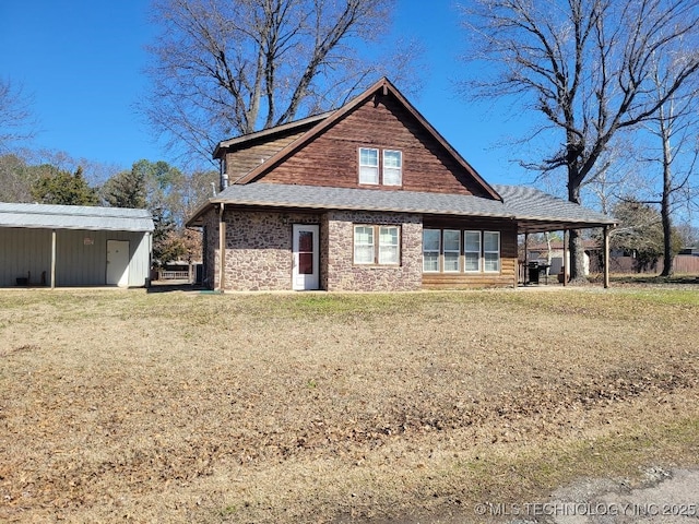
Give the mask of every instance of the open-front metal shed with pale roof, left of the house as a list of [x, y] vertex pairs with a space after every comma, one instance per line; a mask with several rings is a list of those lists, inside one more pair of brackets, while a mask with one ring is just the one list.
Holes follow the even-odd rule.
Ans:
[[0, 203], [0, 287], [149, 284], [147, 210]]

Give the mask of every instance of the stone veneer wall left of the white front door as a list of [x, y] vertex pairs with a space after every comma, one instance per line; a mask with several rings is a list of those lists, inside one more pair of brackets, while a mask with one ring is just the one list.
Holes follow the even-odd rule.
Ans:
[[249, 291], [292, 289], [292, 225], [320, 224], [320, 215], [226, 211], [224, 218], [225, 288]]

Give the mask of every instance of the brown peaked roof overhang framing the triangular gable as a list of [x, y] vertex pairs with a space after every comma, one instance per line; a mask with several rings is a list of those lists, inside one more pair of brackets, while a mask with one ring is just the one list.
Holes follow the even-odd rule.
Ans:
[[[403, 106], [415, 118], [415, 120], [419, 123], [419, 126], [422, 126], [423, 129], [447, 151], [447, 153], [457, 162], [457, 164], [460, 165], [473, 178], [476, 184], [483, 190], [484, 194], [487, 194], [495, 200], [502, 200], [500, 195], [497, 193], [497, 191], [495, 191], [495, 189], [493, 189], [493, 187], [488, 184], [483, 179], [483, 177], [481, 177], [481, 175], [478, 175], [478, 172], [443, 139], [443, 136], [441, 136], [441, 134], [439, 134], [439, 132], [437, 132], [435, 128], [433, 128], [433, 126], [419, 114], [419, 111], [417, 111], [417, 109], [415, 109], [415, 107], [413, 107], [413, 105], [410, 102], [407, 102], [407, 99], [398, 91], [398, 88], [395, 88], [395, 86], [391, 84], [391, 82], [386, 78], [379, 80], [371, 87], [369, 87], [367, 91], [365, 91], [360, 95], [350, 100], [340, 109], [331, 114], [327, 114], [324, 118], [320, 118], [319, 122], [315, 127], [312, 127], [309, 131], [304, 133], [301, 136], [296, 139], [294, 142], [292, 142], [287, 146], [283, 147], [281, 151], [279, 151], [276, 154], [274, 154], [263, 164], [260, 164], [259, 166], [253, 168], [246, 176], [240, 177], [234, 183], [245, 184], [245, 183], [259, 180], [261, 177], [270, 172], [274, 167], [276, 167], [284, 159], [294, 155], [301, 147], [304, 147], [310, 141], [312, 141], [320, 134], [322, 134], [325, 130], [328, 130], [330, 127], [332, 127], [333, 124], [339, 122], [341, 119], [346, 117], [350, 112], [352, 112], [358, 106], [366, 103], [371, 96], [374, 96], [377, 93], [381, 93], [383, 95], [391, 94], [396, 100], [399, 100], [401, 106]], [[268, 130], [266, 132], [271, 133], [273, 132], [273, 130]], [[261, 133], [264, 133], [264, 132], [261, 132]], [[233, 139], [233, 140], [236, 141], [238, 139]], [[240, 140], [242, 140], [242, 138], [240, 138]], [[221, 146], [227, 146], [228, 143], [232, 143], [232, 141], [222, 142]], [[218, 147], [216, 151], [218, 151]]]

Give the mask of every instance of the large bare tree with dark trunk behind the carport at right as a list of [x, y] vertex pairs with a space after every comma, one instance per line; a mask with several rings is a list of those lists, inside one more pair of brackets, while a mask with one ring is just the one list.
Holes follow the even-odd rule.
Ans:
[[[489, 60], [465, 85], [478, 95], [518, 96], [560, 139], [542, 162], [562, 168], [568, 200], [611, 141], [653, 116], [699, 72], [699, 0], [474, 0], [463, 8], [470, 59]], [[653, 56], [682, 40], [687, 49], [653, 96]], [[668, 71], [670, 73], [670, 71]], [[571, 278], [584, 278], [580, 233], [571, 231]]]

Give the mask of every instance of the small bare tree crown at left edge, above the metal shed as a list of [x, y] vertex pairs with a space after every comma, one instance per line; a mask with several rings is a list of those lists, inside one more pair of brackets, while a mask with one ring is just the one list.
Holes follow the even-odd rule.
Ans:
[[31, 106], [32, 97], [22, 86], [0, 79], [0, 154], [8, 153], [15, 142], [34, 136], [36, 122]]

